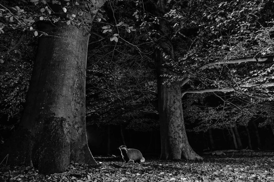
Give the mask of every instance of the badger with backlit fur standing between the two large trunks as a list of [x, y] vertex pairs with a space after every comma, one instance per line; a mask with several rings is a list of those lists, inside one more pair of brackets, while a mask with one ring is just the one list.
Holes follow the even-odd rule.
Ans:
[[133, 162], [144, 162], [144, 157], [139, 150], [133, 148], [126, 148], [125, 145], [119, 147], [123, 160], [127, 163], [129, 161]]

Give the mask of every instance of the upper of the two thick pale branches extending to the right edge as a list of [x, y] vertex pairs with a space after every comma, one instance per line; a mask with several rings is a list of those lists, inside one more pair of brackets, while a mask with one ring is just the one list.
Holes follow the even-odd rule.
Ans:
[[248, 59], [237, 59], [237, 60], [227, 60], [227, 61], [215, 61], [212, 63], [207, 63], [201, 67], [198, 68], [198, 70], [205, 69], [208, 66], [212, 65], [220, 65], [220, 64], [235, 64], [235, 63], [241, 63], [241, 62], [264, 62], [264, 61], [274, 61], [273, 57], [265, 57], [265, 58], [248, 58]]

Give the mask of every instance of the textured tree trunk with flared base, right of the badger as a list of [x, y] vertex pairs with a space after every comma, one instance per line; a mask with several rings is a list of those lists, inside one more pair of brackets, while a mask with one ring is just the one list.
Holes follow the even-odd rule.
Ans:
[[[174, 59], [173, 46], [169, 37], [168, 21], [160, 20], [158, 31], [160, 49], [154, 53], [158, 85], [158, 111], [161, 132], [161, 159], [202, 159], [190, 147], [183, 119], [181, 82], [163, 84], [163, 74], [172, 74], [164, 63]], [[163, 53], [170, 57], [163, 57]]]

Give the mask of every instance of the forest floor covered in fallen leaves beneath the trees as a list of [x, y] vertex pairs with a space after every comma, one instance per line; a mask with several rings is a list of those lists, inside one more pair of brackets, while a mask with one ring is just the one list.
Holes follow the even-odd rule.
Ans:
[[140, 164], [124, 163], [120, 157], [95, 157], [100, 168], [75, 163], [66, 172], [52, 175], [41, 175], [32, 167], [1, 166], [0, 181], [274, 181], [274, 152], [202, 157], [200, 161], [146, 158]]

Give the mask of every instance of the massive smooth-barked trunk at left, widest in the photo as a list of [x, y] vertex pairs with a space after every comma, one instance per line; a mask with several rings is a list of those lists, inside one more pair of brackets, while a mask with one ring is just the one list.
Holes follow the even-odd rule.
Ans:
[[[41, 173], [70, 161], [97, 165], [87, 146], [85, 79], [89, 33], [66, 23], [40, 24], [41, 36], [26, 107], [13, 141], [13, 162]], [[10, 143], [15, 145], [15, 143]]]

